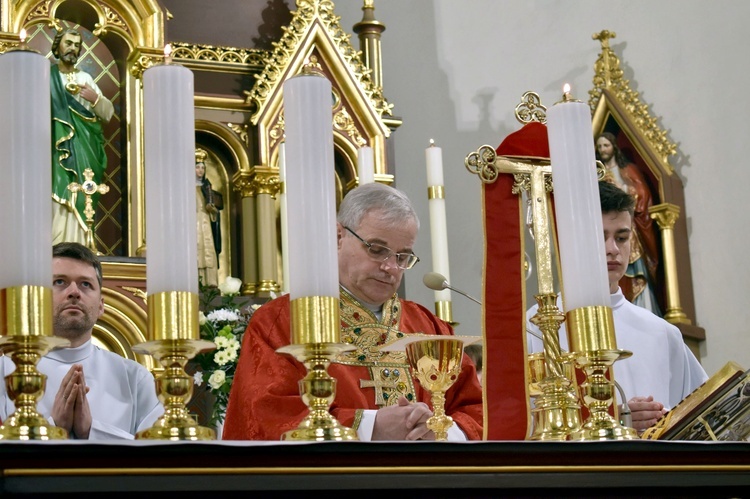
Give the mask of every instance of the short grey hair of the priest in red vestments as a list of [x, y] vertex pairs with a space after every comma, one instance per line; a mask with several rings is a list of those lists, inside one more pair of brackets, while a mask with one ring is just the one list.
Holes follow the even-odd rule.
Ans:
[[419, 217], [406, 194], [377, 182], [349, 191], [341, 202], [337, 220], [344, 227], [356, 230], [371, 211], [380, 211], [386, 225], [396, 227], [412, 219], [419, 229]]

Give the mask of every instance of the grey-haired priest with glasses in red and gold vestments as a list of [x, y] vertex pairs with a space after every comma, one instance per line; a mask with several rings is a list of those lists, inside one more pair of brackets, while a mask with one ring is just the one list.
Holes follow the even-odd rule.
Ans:
[[[419, 219], [409, 199], [382, 184], [349, 192], [337, 218], [341, 341], [355, 347], [331, 364], [336, 398], [331, 414], [360, 440], [429, 440], [430, 394], [414, 383], [404, 352], [379, 347], [411, 333], [452, 335], [429, 310], [400, 299], [396, 290], [414, 254]], [[243, 338], [229, 396], [223, 438], [279, 440], [308, 409], [298, 382], [305, 367], [276, 353], [290, 341], [289, 295], [260, 307]], [[482, 438], [482, 389], [464, 355], [461, 373], [446, 393], [454, 424], [448, 440]]]

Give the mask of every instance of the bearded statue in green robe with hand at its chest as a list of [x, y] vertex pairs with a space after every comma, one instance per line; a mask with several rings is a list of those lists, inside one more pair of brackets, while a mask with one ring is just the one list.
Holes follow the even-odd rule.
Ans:
[[[85, 196], [72, 193], [68, 185], [83, 184], [84, 170], [91, 168], [99, 184], [107, 167], [102, 122], [114, 115], [114, 106], [91, 75], [76, 69], [82, 36], [63, 29], [52, 42], [58, 62], [50, 71], [52, 95], [52, 243], [86, 241]], [[94, 206], [98, 194], [94, 196]]]

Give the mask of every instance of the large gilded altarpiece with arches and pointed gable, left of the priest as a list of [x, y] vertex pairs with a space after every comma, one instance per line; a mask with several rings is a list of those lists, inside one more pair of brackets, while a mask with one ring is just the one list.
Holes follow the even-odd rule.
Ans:
[[[94, 225], [106, 303], [94, 330], [97, 344], [154, 368], [151, 357], [131, 349], [152, 339], [145, 300], [143, 72], [164, 61], [167, 43], [173, 61], [193, 71], [196, 147], [207, 152], [206, 176], [224, 204], [219, 282], [240, 277], [244, 294], [268, 298], [282, 288], [277, 197], [283, 189], [278, 154], [284, 80], [312, 64], [332, 82], [337, 201], [357, 185], [357, 150], [364, 145], [374, 150], [376, 180], [393, 181], [386, 139], [401, 122], [391, 117], [392, 106], [374, 83], [382, 81], [378, 30], [384, 26], [365, 4], [370, 7], [360, 28], [369, 23], [377, 29], [360, 35], [360, 44], [377, 60], [352, 46], [330, 0], [297, 0], [294, 10], [284, 11], [281, 18], [290, 21], [276, 26], [280, 35], [272, 50], [171, 40], [167, 27], [173, 16], [157, 0], [0, 0], [0, 52], [17, 46], [24, 28], [30, 47], [51, 58], [55, 30], [74, 27], [83, 38], [77, 67], [92, 75], [115, 106], [105, 127], [110, 190], [96, 208]], [[194, 9], [196, 18], [201, 8]], [[266, 8], [278, 12], [279, 2]]]

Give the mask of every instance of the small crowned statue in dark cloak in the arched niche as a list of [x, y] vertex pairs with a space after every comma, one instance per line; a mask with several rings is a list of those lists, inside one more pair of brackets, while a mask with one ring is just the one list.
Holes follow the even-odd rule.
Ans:
[[221, 194], [211, 187], [206, 177], [206, 158], [203, 149], [195, 150], [196, 221], [198, 226], [198, 277], [205, 286], [219, 284], [219, 254], [221, 253], [221, 223], [219, 210], [224, 208]]

